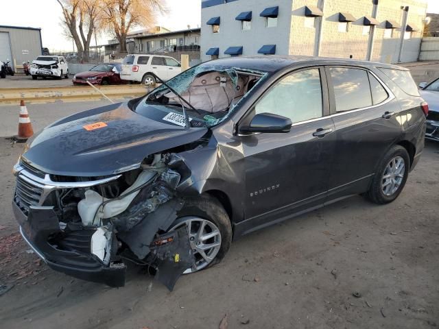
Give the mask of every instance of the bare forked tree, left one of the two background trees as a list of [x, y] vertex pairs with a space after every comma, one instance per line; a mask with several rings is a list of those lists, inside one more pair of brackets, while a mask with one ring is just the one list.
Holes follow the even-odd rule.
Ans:
[[56, 0], [62, 8], [62, 23], [75, 41], [82, 61], [88, 62], [93, 32], [99, 26], [102, 0]]

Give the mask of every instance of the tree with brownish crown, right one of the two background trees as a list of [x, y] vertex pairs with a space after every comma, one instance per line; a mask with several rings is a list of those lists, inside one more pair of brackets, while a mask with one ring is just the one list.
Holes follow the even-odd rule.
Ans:
[[102, 27], [114, 33], [119, 50], [126, 51], [131, 27], [151, 27], [156, 14], [166, 12], [165, 0], [102, 0]]

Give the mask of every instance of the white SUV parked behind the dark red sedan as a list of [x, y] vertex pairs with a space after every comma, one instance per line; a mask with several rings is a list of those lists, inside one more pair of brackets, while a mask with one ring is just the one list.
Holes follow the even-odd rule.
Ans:
[[155, 84], [156, 76], [167, 81], [180, 73], [181, 65], [172, 57], [132, 54], [123, 59], [121, 79]]

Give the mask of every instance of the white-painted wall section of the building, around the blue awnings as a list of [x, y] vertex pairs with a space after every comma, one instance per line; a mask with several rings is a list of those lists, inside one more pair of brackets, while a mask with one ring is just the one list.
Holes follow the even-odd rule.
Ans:
[[[224, 51], [228, 47], [242, 46], [243, 56], [257, 55], [263, 45], [276, 45], [276, 54], [287, 55], [289, 52], [289, 25], [291, 21], [292, 0], [239, 0], [209, 8], [202, 8], [201, 14], [201, 58], [210, 60], [206, 55], [212, 47], [219, 48], [219, 57], [228, 57]], [[265, 27], [265, 17], [259, 16], [268, 7], [278, 5], [277, 27]], [[241, 12], [252, 12], [252, 28], [241, 30], [241, 21], [235, 18]], [[212, 17], [221, 17], [219, 33], [212, 32], [211, 25], [206, 25]]]

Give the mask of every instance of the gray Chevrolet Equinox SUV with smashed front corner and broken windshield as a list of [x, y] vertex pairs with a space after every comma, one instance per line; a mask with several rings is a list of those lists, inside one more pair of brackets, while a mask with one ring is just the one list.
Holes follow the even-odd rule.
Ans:
[[52, 269], [121, 287], [132, 262], [173, 289], [254, 230], [355, 194], [392, 202], [427, 112], [399, 66], [214, 60], [36, 134], [14, 214]]

